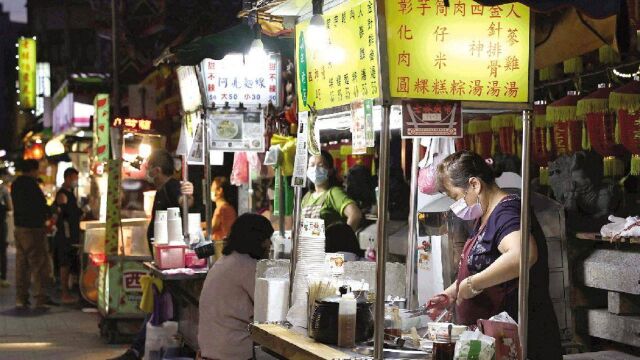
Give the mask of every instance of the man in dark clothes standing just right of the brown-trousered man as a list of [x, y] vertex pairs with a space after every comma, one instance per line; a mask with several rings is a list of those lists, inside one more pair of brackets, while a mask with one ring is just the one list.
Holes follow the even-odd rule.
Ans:
[[55, 256], [60, 270], [60, 292], [63, 304], [78, 301], [69, 293], [69, 274], [78, 272], [78, 250], [74, 245], [80, 243], [80, 218], [82, 210], [74, 190], [78, 187], [78, 170], [68, 168], [64, 171], [64, 183], [56, 194], [55, 216], [56, 235]]

